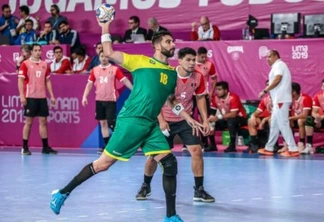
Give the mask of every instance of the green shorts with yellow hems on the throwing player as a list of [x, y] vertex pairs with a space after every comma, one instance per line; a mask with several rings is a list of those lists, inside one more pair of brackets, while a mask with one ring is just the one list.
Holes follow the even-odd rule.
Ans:
[[118, 118], [104, 153], [114, 159], [128, 161], [140, 147], [146, 156], [171, 153], [157, 122], [143, 124], [143, 120], [138, 118]]

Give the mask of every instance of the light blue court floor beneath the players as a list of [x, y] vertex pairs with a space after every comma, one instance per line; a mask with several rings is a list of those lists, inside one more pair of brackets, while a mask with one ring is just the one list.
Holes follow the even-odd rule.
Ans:
[[[49, 208], [51, 191], [62, 188], [95, 150], [58, 155], [21, 156], [0, 149], [0, 221], [163, 221], [161, 172], [152, 181], [152, 196], [136, 201], [145, 157], [118, 162], [79, 186], [59, 216]], [[205, 188], [216, 203], [195, 203], [188, 154], [178, 153], [177, 212], [186, 222], [323, 222], [324, 157], [296, 159], [247, 154], [205, 154]]]

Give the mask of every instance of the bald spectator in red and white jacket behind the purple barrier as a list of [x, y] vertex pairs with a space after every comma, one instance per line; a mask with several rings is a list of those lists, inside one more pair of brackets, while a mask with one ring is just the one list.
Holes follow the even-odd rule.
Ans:
[[212, 25], [207, 16], [200, 18], [200, 26], [196, 31], [196, 22], [191, 24], [190, 40], [220, 40], [220, 31], [216, 25]]

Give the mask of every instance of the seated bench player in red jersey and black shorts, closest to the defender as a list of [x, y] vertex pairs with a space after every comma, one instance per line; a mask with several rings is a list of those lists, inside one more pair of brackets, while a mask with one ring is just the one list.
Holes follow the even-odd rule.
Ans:
[[214, 109], [214, 112], [209, 117], [209, 122], [216, 122], [215, 129], [228, 129], [230, 144], [224, 152], [236, 152], [237, 133], [241, 126], [246, 126], [247, 124], [245, 109], [240, 97], [229, 92], [227, 82], [218, 82], [216, 84], [216, 93], [217, 96], [213, 96], [211, 99], [211, 108]]

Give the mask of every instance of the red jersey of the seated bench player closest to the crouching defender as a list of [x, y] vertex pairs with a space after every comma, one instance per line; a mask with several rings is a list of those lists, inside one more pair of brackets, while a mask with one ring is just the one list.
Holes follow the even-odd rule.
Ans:
[[219, 99], [213, 96], [211, 101], [211, 108], [218, 109], [222, 115], [231, 111], [238, 111], [237, 116], [246, 118], [246, 112], [240, 98], [234, 93], [228, 93], [225, 99]]

